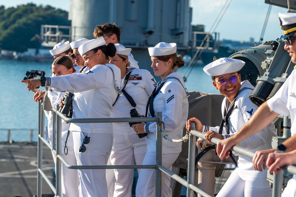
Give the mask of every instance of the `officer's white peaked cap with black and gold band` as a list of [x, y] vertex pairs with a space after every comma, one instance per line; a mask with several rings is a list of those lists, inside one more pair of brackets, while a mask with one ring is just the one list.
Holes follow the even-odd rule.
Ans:
[[279, 19], [282, 30], [284, 30], [284, 35], [281, 37], [281, 40], [287, 39], [296, 33], [296, 13], [295, 12], [287, 12], [281, 13], [279, 12]]

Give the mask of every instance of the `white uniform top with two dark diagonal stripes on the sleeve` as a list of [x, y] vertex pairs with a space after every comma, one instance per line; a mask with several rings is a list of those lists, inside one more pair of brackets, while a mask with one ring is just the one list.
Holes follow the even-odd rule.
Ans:
[[[171, 78], [175, 77], [179, 79]], [[162, 112], [162, 121], [165, 124], [165, 132], [172, 139], [180, 140], [183, 136], [183, 128], [188, 118], [188, 92], [183, 77], [180, 73], [174, 72], [164, 79], [164, 85], [156, 95], [153, 102], [154, 116], [156, 112]], [[159, 81], [157, 87], [161, 84]], [[151, 117], [148, 110], [148, 117]], [[156, 152], [156, 122], [147, 122], [144, 125], [146, 136], [147, 152]], [[175, 143], [162, 138], [162, 154], [180, 153], [182, 143]]]

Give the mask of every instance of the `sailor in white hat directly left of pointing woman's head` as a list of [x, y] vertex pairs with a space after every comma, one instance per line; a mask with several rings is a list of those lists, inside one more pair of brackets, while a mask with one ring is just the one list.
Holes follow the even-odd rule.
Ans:
[[[84, 66], [84, 60], [82, 56], [79, 54], [78, 47], [80, 47], [81, 44], [84, 44], [88, 41], [89, 39], [81, 38], [70, 43], [70, 46], [73, 49], [73, 54], [75, 55], [75, 58], [73, 60], [76, 64], [75, 68], [77, 73], [83, 73], [86, 71], [85, 70], [86, 66]], [[70, 59], [72, 59], [71, 56], [70, 56]]]

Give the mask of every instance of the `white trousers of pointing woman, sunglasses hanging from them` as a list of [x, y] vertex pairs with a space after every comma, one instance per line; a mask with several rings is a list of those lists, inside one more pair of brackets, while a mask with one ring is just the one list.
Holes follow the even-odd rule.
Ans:
[[[90, 137], [84, 144], [85, 152], [75, 151], [77, 165], [106, 165], [109, 158], [113, 134], [84, 133], [73, 131], [74, 150], [79, 150], [85, 136]], [[79, 196], [107, 197], [107, 182], [105, 169], [79, 169]], [[78, 196], [78, 195], [76, 195]]]

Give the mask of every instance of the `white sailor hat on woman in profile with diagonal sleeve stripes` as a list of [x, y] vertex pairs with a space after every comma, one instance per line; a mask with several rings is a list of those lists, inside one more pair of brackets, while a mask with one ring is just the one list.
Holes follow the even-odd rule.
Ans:
[[176, 43], [160, 42], [155, 47], [148, 47], [150, 56], [171, 55], [177, 52]]

